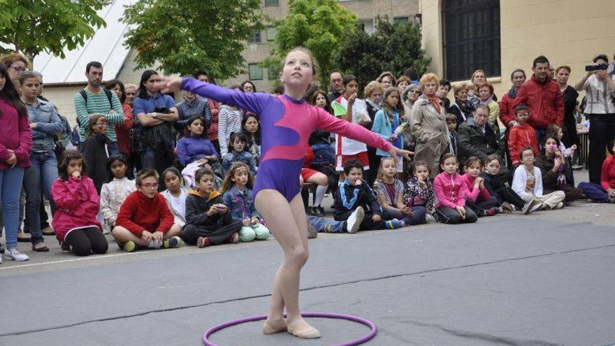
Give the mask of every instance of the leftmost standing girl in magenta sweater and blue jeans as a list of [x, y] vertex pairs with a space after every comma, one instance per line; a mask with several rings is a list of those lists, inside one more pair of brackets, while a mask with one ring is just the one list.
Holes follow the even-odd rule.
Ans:
[[[4, 257], [13, 261], [27, 261], [27, 254], [17, 250], [19, 226], [19, 199], [24, 168], [31, 166], [30, 148], [32, 131], [28, 112], [10, 81], [5, 67], [0, 64], [0, 203], [6, 229]], [[0, 257], [2, 263], [2, 257]]]

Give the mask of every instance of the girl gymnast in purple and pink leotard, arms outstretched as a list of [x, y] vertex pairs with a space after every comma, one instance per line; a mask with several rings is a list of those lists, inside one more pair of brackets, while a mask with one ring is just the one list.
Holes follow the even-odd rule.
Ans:
[[[307, 261], [307, 219], [301, 201], [299, 173], [307, 149], [307, 139], [315, 129], [362, 140], [388, 151], [392, 157], [412, 152], [386, 143], [363, 127], [338, 119], [322, 108], [303, 101], [314, 80], [316, 68], [309, 50], [294, 48], [282, 62], [280, 81], [284, 94], [273, 96], [248, 93], [198, 82], [192, 78], [164, 79], [159, 89], [181, 89], [238, 106], [259, 116], [262, 147], [259, 174], [254, 185], [256, 209], [264, 217], [273, 236], [284, 250], [284, 261], [277, 270], [268, 317], [263, 333], [288, 331], [298, 338], [319, 338], [320, 332], [307, 324], [299, 309], [299, 275]], [[284, 319], [284, 308], [287, 319]]]

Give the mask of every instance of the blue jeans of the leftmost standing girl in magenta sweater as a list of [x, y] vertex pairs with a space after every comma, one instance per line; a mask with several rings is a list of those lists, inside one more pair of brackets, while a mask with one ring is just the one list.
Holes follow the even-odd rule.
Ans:
[[24, 168], [15, 166], [0, 169], [0, 202], [6, 230], [6, 247], [17, 247], [17, 231], [19, 226], [19, 201], [24, 179]]

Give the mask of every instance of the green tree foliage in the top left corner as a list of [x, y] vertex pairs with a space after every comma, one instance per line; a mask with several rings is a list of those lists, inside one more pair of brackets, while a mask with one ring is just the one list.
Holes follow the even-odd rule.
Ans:
[[12, 0], [0, 1], [0, 43], [30, 61], [41, 52], [64, 58], [64, 48], [73, 50], [95, 34], [94, 28], [106, 26], [96, 11], [106, 0]]

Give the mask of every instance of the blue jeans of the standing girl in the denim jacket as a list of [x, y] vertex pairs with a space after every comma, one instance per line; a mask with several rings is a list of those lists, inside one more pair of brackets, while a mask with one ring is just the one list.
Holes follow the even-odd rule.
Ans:
[[24, 190], [26, 192], [26, 224], [32, 235], [32, 243], [41, 243], [41, 192], [51, 206], [51, 215], [55, 213], [55, 204], [51, 196], [51, 185], [58, 178], [57, 160], [52, 151], [31, 152], [32, 166], [24, 171]]

